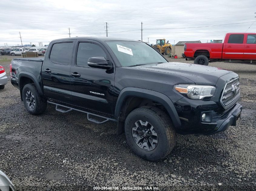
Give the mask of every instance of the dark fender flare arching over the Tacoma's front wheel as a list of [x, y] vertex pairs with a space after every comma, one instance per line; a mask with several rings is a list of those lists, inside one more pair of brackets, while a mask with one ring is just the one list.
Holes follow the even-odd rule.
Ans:
[[127, 87], [127, 88], [122, 89], [122, 91], [120, 92], [120, 94], [118, 96], [117, 103], [115, 106], [115, 117], [116, 118], [119, 118], [122, 104], [123, 104], [125, 98], [128, 96], [146, 98], [146, 99], [150, 99], [150, 100], [156, 101], [158, 103], [161, 103], [165, 107], [167, 112], [169, 113], [169, 116], [171, 117], [172, 123], [175, 126], [175, 128], [181, 126], [180, 118], [179, 118], [178, 113], [174, 107], [174, 104], [172, 103], [170, 98], [160, 92], [143, 89], [143, 88]]

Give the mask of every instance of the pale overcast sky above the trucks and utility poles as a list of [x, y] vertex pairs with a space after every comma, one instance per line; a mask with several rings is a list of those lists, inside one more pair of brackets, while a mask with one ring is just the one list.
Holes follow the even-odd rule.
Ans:
[[[227, 32], [256, 32], [255, 0], [0, 1], [0, 46], [76, 36], [108, 36], [155, 43], [222, 39]], [[213, 26], [214, 25], [214, 26]], [[251, 26], [251, 27], [250, 27]], [[250, 27], [250, 28], [249, 28]], [[248, 29], [249, 28], [249, 29]]]

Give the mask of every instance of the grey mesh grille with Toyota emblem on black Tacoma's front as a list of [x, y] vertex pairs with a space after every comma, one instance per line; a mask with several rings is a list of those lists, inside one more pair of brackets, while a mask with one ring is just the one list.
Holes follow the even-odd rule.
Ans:
[[240, 97], [239, 78], [229, 81], [221, 96], [221, 105], [227, 109], [234, 105]]

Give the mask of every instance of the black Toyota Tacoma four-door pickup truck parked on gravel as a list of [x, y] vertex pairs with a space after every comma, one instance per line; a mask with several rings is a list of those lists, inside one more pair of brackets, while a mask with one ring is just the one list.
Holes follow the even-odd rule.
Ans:
[[176, 133], [212, 135], [241, 118], [236, 73], [168, 62], [140, 41], [53, 40], [44, 59], [13, 59], [10, 70], [29, 113], [50, 103], [97, 124], [117, 122], [117, 134], [125, 132], [131, 149], [150, 161], [171, 152]]

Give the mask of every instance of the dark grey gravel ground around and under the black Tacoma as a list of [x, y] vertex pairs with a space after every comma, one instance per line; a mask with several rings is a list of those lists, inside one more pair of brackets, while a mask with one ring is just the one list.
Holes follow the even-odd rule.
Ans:
[[[0, 58], [8, 78], [10, 58]], [[158, 162], [137, 157], [125, 135], [116, 136], [114, 123], [96, 125], [85, 114], [61, 114], [52, 105], [45, 114], [29, 115], [9, 81], [0, 90], [0, 169], [17, 190], [75, 191], [93, 190], [93, 186], [255, 190], [256, 65], [209, 65], [241, 76], [241, 122], [217, 135], [178, 135], [174, 150]]]

